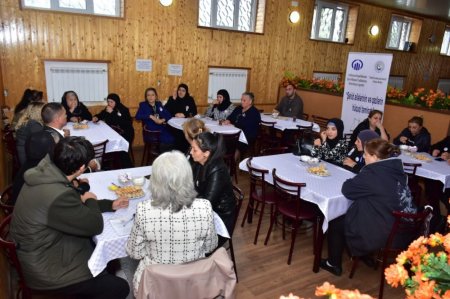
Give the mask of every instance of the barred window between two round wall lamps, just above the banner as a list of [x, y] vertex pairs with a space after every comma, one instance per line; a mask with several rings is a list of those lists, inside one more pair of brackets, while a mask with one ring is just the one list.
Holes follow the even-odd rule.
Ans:
[[348, 11], [348, 5], [316, 0], [311, 38], [345, 42]]

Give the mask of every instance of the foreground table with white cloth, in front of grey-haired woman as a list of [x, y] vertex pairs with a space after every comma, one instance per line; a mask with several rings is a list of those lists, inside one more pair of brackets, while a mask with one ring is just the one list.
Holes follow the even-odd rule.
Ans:
[[[110, 186], [126, 186], [132, 184], [133, 178], [147, 177], [144, 180], [142, 189], [144, 196], [129, 200], [127, 208], [119, 209], [115, 212], [104, 212], [103, 231], [101, 234], [93, 237], [96, 244], [92, 253], [88, 267], [93, 276], [100, 274], [109, 261], [128, 256], [125, 250], [128, 237], [133, 227], [134, 215], [139, 202], [151, 200], [149, 190], [150, 181], [148, 177], [152, 174], [151, 166], [127, 168], [120, 170], [100, 171], [85, 173], [80, 178], [89, 180], [90, 191], [97, 195], [98, 199], [115, 200], [117, 195], [110, 190]], [[131, 178], [128, 183], [123, 183], [123, 178]], [[230, 238], [230, 235], [221, 218], [214, 213], [214, 225], [218, 235]]]

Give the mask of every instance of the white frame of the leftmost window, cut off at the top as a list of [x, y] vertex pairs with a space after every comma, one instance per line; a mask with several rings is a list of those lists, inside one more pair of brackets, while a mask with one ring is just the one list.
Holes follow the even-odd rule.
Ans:
[[116, 11], [115, 11], [114, 15], [106, 15], [106, 14], [96, 13], [96, 12], [94, 12], [94, 1], [95, 0], [85, 0], [85, 1], [86, 1], [86, 9], [61, 7], [59, 5], [59, 0], [50, 0], [50, 8], [26, 5], [25, 0], [20, 0], [20, 4], [23, 9], [38, 9], [38, 10], [56, 11], [56, 12], [68, 12], [68, 13], [77, 13], [77, 14], [106, 16], [106, 17], [112, 17], [112, 18], [123, 17], [122, 10], [125, 7], [125, 5], [123, 3], [125, 0], [110, 0], [110, 1], [114, 1], [116, 3], [116, 5], [115, 5]]

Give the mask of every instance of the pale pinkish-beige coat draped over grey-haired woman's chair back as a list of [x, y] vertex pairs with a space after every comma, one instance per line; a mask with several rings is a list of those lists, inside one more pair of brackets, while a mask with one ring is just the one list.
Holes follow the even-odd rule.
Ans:
[[235, 298], [235, 287], [233, 262], [221, 247], [194, 262], [145, 267], [136, 298]]

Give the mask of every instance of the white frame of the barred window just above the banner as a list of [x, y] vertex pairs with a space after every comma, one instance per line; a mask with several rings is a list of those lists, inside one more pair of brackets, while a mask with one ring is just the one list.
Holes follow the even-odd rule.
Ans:
[[[332, 23], [331, 23], [329, 38], [319, 37], [320, 11], [322, 10], [322, 8], [333, 9], [333, 16], [331, 17]], [[341, 37], [339, 38], [338, 41], [334, 41], [333, 40], [333, 32], [334, 32], [334, 26], [335, 26], [335, 22], [336, 22], [336, 11], [338, 9], [344, 11], [344, 20], [343, 20], [343, 28], [342, 28]], [[313, 19], [315, 19], [315, 22], [313, 22], [312, 28], [311, 28], [311, 36], [310, 36], [311, 39], [329, 41], [329, 42], [333, 42], [333, 43], [345, 43], [345, 34], [347, 32], [348, 13], [349, 13], [350, 7], [347, 4], [343, 4], [343, 3], [334, 3], [334, 2], [316, 0], [314, 10], [315, 11], [314, 11]]]

